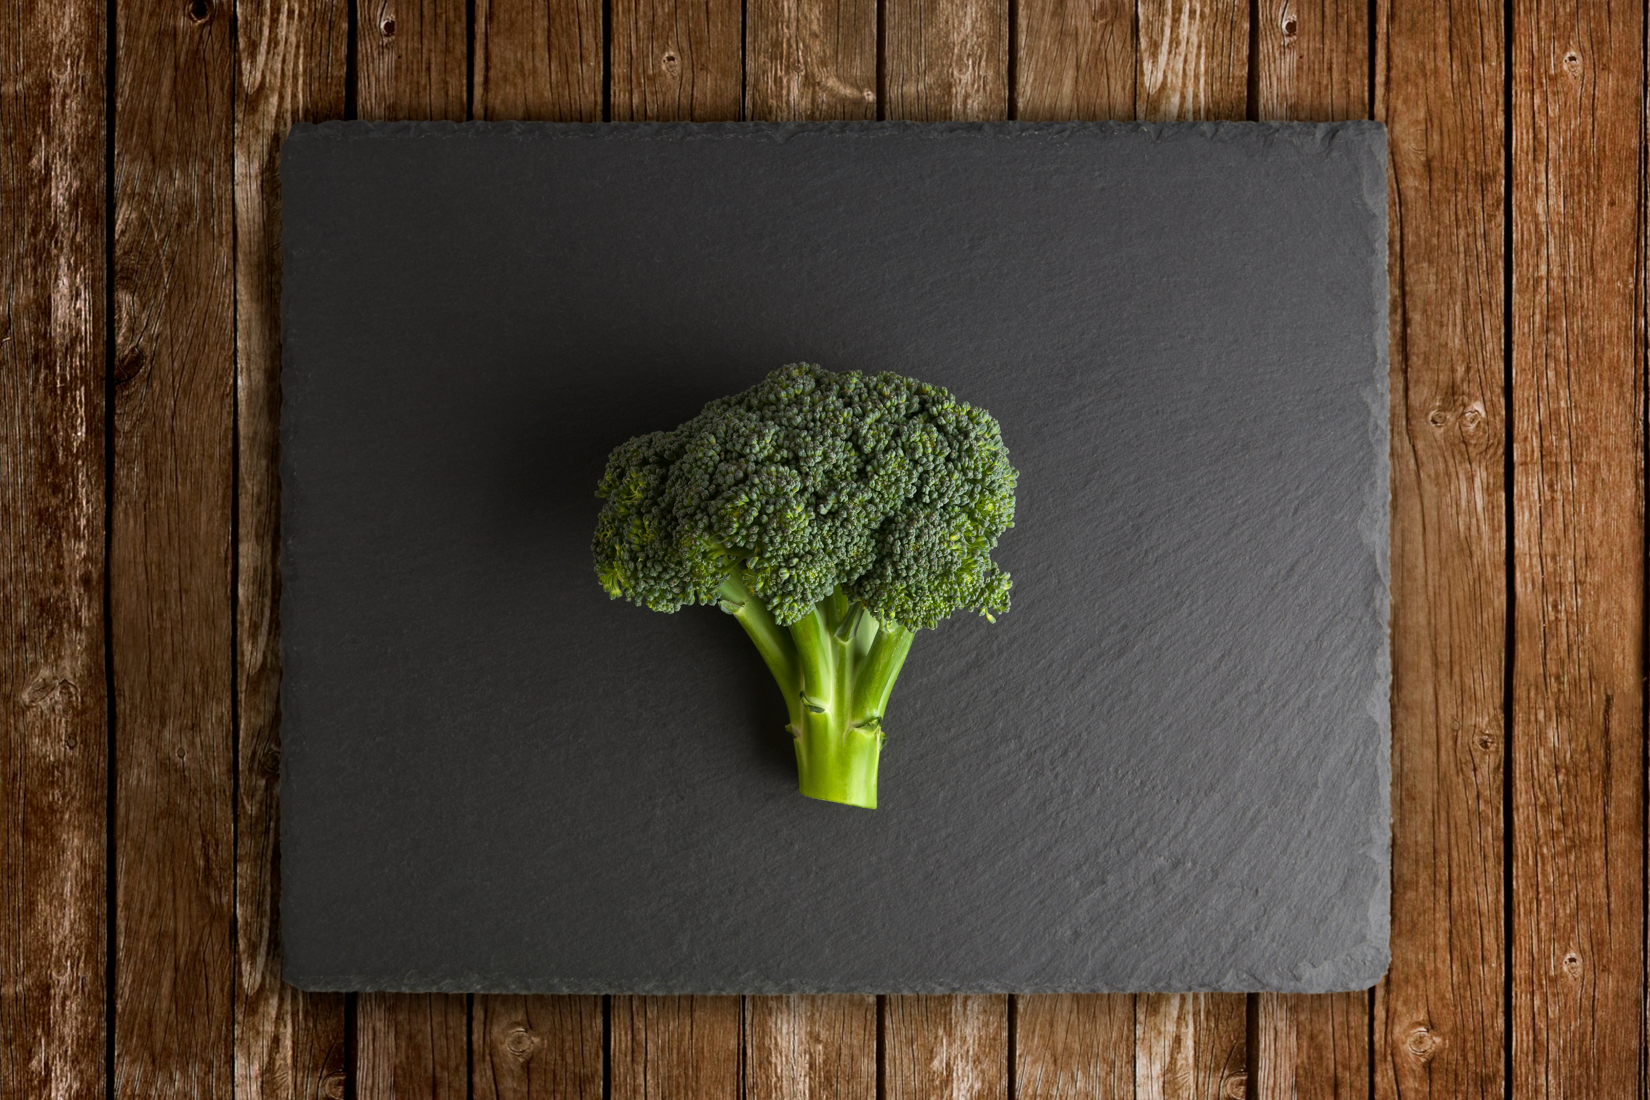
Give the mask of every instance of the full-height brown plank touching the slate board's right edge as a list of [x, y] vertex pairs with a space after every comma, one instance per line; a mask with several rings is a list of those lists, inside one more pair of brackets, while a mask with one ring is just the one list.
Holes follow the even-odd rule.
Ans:
[[1383, 0], [1393, 432], [1393, 966], [1376, 1095], [1503, 1095], [1503, 10]]

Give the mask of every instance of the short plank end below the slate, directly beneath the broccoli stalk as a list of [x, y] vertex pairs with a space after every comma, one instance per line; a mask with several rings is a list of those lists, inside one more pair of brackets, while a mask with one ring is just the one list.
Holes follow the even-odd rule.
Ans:
[[744, 998], [744, 1095], [873, 1100], [876, 998]]

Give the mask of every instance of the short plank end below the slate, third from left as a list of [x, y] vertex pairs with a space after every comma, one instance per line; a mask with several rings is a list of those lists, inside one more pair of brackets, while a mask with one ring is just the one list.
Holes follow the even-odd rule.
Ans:
[[615, 996], [612, 1100], [734, 1100], [739, 998]]

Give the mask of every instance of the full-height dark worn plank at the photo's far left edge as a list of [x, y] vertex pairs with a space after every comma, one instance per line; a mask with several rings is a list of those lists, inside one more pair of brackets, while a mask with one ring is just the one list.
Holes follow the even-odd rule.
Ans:
[[0, 1082], [104, 1093], [104, 12], [0, 18]]

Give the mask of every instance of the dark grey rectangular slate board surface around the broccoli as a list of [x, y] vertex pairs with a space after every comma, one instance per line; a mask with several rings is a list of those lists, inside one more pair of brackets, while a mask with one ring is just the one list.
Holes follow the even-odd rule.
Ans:
[[[1388, 961], [1384, 130], [300, 125], [282, 955], [312, 990], [1350, 990]], [[607, 450], [797, 360], [1003, 425], [1013, 612], [802, 798]]]

